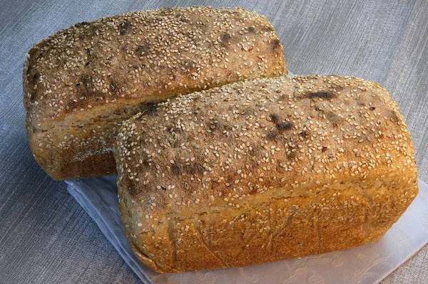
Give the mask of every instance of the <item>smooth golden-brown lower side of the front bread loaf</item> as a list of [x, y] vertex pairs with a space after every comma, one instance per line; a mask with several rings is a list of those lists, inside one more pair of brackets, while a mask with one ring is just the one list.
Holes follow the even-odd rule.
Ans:
[[250, 196], [239, 209], [215, 204], [181, 212], [165, 209], [151, 221], [148, 212], [129, 208], [138, 202], [128, 190], [119, 190], [126, 234], [138, 259], [158, 273], [180, 273], [282, 261], [377, 241], [412, 202], [417, 184], [409, 185], [407, 177], [369, 179], [321, 186], [307, 196], [283, 193]]

